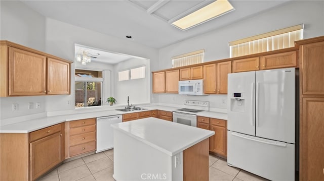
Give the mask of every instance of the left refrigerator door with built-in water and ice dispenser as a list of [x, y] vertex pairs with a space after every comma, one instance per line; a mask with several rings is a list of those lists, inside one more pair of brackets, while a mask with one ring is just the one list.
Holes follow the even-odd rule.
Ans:
[[228, 74], [227, 128], [255, 135], [255, 71]]

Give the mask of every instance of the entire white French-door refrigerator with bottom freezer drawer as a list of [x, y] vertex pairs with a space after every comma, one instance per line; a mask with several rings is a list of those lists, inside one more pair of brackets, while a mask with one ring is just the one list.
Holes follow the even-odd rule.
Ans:
[[228, 74], [228, 165], [295, 180], [295, 99], [295, 68]]

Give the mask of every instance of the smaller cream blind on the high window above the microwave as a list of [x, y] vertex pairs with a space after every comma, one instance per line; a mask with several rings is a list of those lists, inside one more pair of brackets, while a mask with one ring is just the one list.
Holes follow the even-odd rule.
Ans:
[[203, 63], [205, 59], [205, 50], [197, 50], [190, 53], [172, 57], [172, 67], [189, 66]]

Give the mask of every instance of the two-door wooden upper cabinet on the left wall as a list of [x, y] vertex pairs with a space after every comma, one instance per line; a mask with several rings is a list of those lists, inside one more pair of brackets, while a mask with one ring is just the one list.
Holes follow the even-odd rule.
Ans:
[[0, 96], [70, 94], [70, 63], [9, 41], [1, 41]]

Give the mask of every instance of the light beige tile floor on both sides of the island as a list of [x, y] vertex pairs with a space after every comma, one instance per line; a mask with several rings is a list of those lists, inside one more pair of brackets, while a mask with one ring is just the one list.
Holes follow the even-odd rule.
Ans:
[[[55, 168], [38, 181], [113, 181], [113, 149], [72, 160]], [[230, 167], [226, 160], [209, 155], [210, 181], [267, 180], [247, 171]]]

